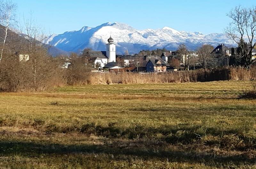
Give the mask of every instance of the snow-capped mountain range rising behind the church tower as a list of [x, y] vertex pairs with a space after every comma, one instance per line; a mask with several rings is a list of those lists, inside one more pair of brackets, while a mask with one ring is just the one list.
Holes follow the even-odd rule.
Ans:
[[84, 48], [106, 50], [109, 36], [115, 40], [117, 53], [138, 53], [142, 49], [166, 48], [176, 50], [184, 43], [190, 50], [196, 50], [202, 44], [217, 46], [220, 43], [235, 45], [223, 33], [204, 35], [200, 32], [177, 31], [170, 27], [162, 29], [136, 30], [122, 23], [105, 23], [97, 27], [84, 26], [79, 31], [53, 34], [44, 42], [67, 52], [79, 52]]

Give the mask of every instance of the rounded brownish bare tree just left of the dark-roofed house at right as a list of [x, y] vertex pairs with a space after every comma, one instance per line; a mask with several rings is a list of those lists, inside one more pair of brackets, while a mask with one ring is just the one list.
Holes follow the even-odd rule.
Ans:
[[206, 67], [209, 65], [209, 63], [212, 60], [211, 52], [213, 50], [212, 45], [203, 45], [198, 50], [198, 60], [199, 63], [206, 69]]

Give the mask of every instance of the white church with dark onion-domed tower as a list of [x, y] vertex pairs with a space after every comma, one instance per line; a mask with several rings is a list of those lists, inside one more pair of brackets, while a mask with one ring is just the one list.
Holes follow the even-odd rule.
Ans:
[[96, 68], [120, 69], [121, 66], [116, 64], [116, 44], [111, 37], [106, 44], [106, 51], [89, 51], [90, 60], [94, 63]]

